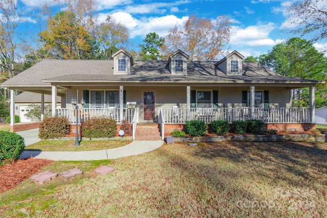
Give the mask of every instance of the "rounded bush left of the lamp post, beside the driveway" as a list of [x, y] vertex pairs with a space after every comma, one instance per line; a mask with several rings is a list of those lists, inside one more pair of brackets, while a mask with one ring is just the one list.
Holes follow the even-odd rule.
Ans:
[[44, 118], [39, 126], [40, 139], [61, 138], [71, 132], [71, 124], [65, 117]]

